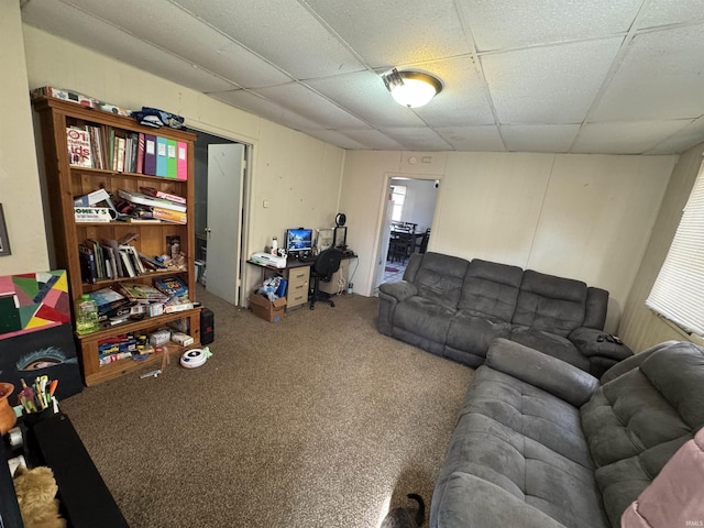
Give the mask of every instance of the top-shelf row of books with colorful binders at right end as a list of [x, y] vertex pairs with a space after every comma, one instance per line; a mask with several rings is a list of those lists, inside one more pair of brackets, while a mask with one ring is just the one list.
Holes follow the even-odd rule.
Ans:
[[113, 127], [66, 127], [69, 163], [78, 167], [188, 179], [186, 142]]

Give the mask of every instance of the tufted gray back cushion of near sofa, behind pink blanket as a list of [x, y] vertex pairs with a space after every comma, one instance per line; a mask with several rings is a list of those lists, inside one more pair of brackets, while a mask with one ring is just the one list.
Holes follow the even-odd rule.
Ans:
[[676, 342], [602, 385], [582, 427], [613, 526], [680, 447], [704, 426], [704, 351]]

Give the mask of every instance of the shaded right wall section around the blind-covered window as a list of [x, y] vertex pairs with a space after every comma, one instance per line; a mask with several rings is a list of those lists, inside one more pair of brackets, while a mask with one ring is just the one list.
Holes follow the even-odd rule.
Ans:
[[620, 338], [638, 352], [670, 339], [692, 340], [683, 331], [667, 323], [647, 308], [645, 302], [670, 250], [670, 244], [682, 218], [682, 211], [702, 165], [704, 143], [701, 143], [680, 156], [672, 172], [658, 213], [656, 228], [626, 304], [618, 331]]

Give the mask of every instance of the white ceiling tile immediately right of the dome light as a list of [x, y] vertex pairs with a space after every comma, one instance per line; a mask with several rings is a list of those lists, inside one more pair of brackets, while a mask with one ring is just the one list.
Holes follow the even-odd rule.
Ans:
[[582, 122], [620, 43], [616, 37], [482, 57], [499, 122]]

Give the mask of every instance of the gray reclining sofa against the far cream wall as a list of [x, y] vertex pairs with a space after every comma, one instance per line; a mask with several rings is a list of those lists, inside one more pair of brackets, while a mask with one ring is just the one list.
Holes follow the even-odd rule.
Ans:
[[600, 340], [608, 292], [580, 280], [440, 253], [414, 254], [404, 280], [380, 286], [377, 328], [465, 365], [505, 338], [594, 376], [632, 355]]

